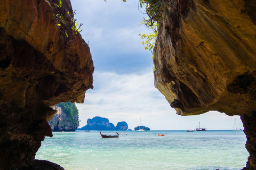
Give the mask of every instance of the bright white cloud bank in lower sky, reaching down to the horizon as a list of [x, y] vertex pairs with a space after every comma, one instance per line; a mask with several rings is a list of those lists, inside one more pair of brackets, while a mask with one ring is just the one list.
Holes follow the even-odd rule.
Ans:
[[[232, 129], [234, 117], [210, 112], [196, 116], [180, 116], [154, 87], [151, 71], [140, 74], [95, 72], [94, 89], [86, 92], [84, 104], [77, 104], [81, 126], [88, 118], [106, 117], [111, 123], [125, 121], [130, 129], [139, 125], [151, 130], [195, 129], [198, 122], [208, 129]], [[238, 119], [242, 128], [242, 122]]]

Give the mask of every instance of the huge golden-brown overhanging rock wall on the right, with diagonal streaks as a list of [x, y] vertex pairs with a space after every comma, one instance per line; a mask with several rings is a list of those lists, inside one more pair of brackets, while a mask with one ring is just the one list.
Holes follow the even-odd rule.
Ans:
[[245, 169], [256, 169], [256, 1], [162, 2], [155, 87], [179, 115], [243, 115]]

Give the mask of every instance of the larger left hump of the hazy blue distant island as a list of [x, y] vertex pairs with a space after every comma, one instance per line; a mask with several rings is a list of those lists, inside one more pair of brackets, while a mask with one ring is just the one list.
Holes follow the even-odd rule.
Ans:
[[109, 123], [108, 118], [96, 116], [88, 118], [87, 125], [83, 126], [83, 128], [79, 130], [98, 130], [98, 131], [111, 131], [115, 130], [115, 125], [113, 123]]

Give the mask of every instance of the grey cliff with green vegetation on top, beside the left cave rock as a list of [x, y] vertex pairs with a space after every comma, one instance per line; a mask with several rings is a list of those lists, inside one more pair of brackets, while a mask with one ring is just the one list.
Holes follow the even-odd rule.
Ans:
[[78, 109], [75, 103], [60, 103], [52, 107], [57, 113], [48, 122], [52, 131], [76, 131], [79, 126]]

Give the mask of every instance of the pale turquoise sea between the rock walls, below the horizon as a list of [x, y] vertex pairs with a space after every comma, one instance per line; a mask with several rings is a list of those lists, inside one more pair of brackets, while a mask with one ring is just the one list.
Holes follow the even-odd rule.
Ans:
[[99, 131], [53, 132], [36, 159], [66, 170], [239, 170], [249, 156], [243, 131], [101, 131], [116, 132], [108, 139]]

